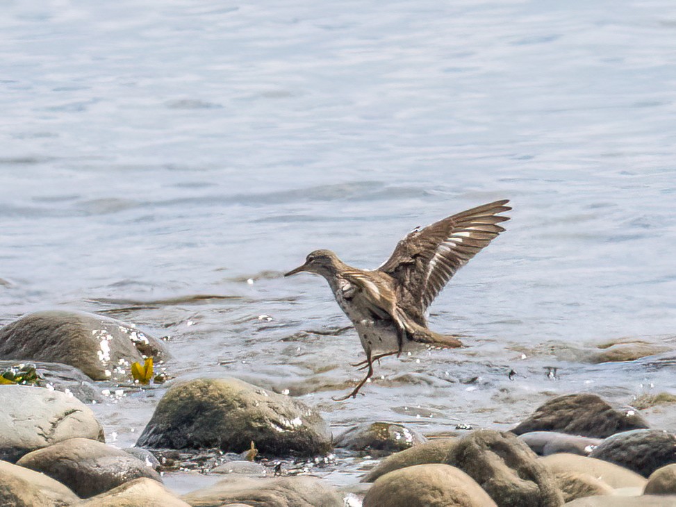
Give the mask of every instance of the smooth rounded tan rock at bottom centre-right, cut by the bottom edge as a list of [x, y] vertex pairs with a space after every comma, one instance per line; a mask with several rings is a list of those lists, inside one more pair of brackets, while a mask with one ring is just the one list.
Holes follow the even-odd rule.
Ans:
[[450, 465], [414, 465], [379, 477], [363, 507], [495, 507], [488, 494], [462, 470]]

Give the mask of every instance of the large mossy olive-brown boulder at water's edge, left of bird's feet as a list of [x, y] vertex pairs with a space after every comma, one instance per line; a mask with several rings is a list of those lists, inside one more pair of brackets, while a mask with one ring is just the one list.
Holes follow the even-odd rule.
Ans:
[[331, 449], [331, 433], [296, 399], [238, 379], [195, 379], [172, 385], [136, 445], [242, 452], [251, 442], [262, 454], [315, 456]]

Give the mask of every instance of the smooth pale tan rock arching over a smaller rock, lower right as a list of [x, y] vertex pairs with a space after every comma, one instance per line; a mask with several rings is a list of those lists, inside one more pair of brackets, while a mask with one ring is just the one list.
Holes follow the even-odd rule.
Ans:
[[607, 461], [577, 456], [577, 454], [552, 454], [540, 458], [540, 463], [549, 468], [554, 474], [561, 472], [576, 472], [589, 474], [601, 479], [611, 488], [643, 488], [645, 479], [636, 472], [613, 465]]

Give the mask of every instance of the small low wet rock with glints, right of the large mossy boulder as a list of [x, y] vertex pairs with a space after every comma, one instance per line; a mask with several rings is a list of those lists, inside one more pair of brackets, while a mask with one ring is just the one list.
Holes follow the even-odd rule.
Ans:
[[357, 424], [340, 433], [334, 440], [336, 447], [352, 451], [381, 451], [391, 453], [409, 449], [427, 442], [423, 435], [393, 422], [372, 422]]

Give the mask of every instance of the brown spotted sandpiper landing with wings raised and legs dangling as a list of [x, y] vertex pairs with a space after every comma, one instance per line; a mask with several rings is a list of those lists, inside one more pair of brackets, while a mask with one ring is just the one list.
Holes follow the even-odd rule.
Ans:
[[507, 203], [509, 199], [494, 201], [416, 227], [377, 269], [349, 266], [333, 251], [322, 249], [309, 253], [303, 265], [284, 275], [323, 276], [359, 335], [366, 359], [352, 366], [367, 369], [366, 376], [352, 392], [334, 397], [335, 401], [356, 398], [373, 375], [374, 361], [401, 355], [411, 342], [462, 346], [456, 335], [428, 329], [427, 308], [458, 269], [504, 232], [498, 224], [509, 220], [500, 215], [511, 210]]

